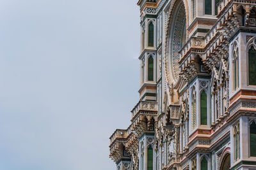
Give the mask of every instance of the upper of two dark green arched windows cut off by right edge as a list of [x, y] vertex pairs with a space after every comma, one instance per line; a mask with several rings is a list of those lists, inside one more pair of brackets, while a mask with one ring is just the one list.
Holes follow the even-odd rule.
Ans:
[[256, 50], [254, 46], [249, 50], [249, 85], [256, 85]]

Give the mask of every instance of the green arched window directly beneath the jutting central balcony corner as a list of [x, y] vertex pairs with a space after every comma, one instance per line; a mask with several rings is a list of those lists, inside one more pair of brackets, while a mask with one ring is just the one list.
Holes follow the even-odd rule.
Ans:
[[200, 96], [201, 125], [207, 125], [207, 94], [205, 91]]

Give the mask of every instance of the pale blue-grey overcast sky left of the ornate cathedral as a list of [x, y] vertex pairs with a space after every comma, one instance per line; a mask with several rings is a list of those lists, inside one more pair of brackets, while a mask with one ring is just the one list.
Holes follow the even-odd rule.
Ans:
[[136, 0], [0, 0], [0, 169], [112, 170], [138, 102]]

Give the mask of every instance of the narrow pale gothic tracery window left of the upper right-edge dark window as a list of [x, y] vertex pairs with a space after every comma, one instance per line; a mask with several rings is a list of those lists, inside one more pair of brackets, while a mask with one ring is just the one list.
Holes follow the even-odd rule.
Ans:
[[233, 89], [236, 90], [239, 87], [239, 61], [238, 61], [238, 48], [235, 45], [233, 53]]

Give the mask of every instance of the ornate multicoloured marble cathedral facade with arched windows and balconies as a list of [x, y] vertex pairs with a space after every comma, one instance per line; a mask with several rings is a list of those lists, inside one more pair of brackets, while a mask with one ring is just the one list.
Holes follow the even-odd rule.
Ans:
[[140, 0], [140, 98], [117, 170], [256, 169], [256, 1]]

